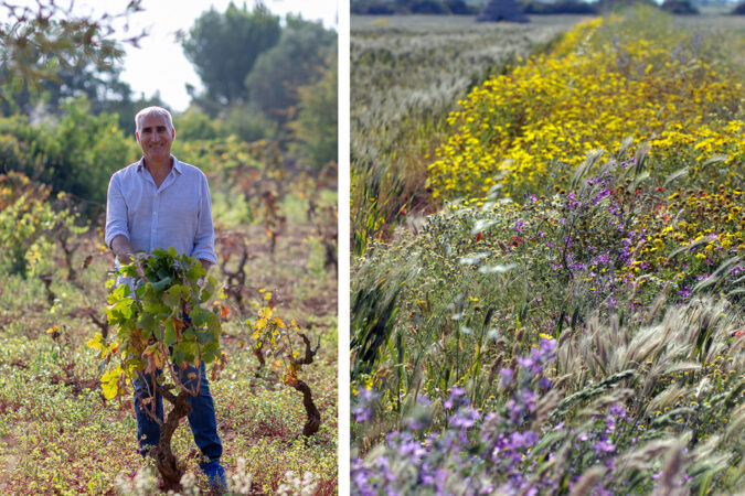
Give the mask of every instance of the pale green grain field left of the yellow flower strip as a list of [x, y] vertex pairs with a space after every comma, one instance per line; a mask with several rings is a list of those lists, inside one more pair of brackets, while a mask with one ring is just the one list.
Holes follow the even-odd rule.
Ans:
[[[352, 247], [428, 203], [425, 158], [455, 101], [581, 18], [476, 24], [468, 17], [352, 17]], [[435, 34], [436, 33], [436, 34]]]

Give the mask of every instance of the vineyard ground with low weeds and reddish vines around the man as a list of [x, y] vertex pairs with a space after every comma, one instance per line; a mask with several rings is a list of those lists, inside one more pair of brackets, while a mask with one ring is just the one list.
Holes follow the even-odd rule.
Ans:
[[[226, 363], [207, 375], [232, 494], [336, 494], [336, 171], [291, 172], [260, 142], [177, 142], [174, 154], [200, 164], [213, 195], [219, 290], [203, 305], [222, 321]], [[116, 336], [105, 313], [114, 260], [103, 218], [86, 227], [58, 201], [20, 174], [0, 175], [0, 493], [163, 493], [152, 461], [136, 451], [131, 386], [105, 399], [106, 360], [91, 347], [97, 333]], [[320, 412], [308, 438], [286, 357], [272, 349], [259, 366], [267, 316], [287, 323], [295, 346], [292, 321], [320, 345], [294, 371]], [[172, 446], [185, 467], [181, 493], [206, 492], [185, 419]]]

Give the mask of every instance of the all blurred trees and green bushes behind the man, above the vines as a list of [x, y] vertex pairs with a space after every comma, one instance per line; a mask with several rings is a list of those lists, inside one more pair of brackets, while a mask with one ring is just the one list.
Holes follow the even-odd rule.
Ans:
[[[0, 8], [0, 174], [71, 194], [81, 220], [97, 220], [111, 173], [140, 157], [135, 114], [168, 107], [120, 79], [123, 45], [109, 41], [114, 20], [142, 10], [140, 2], [102, 19], [72, 19], [54, 2]], [[336, 163], [336, 31], [231, 3], [203, 13], [181, 43], [205, 88], [190, 88], [190, 107], [172, 112], [181, 160], [200, 149], [194, 164], [217, 168], [214, 159], [263, 140], [279, 151], [281, 168], [312, 175]]]

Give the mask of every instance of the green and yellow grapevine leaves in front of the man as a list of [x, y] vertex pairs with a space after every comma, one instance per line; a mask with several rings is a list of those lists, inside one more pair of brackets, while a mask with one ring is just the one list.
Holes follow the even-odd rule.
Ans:
[[138, 374], [158, 369], [169, 373], [159, 380], [170, 377], [180, 386], [179, 369], [221, 357], [219, 310], [200, 306], [216, 287], [205, 273], [199, 260], [169, 248], [125, 265], [109, 278], [107, 287], [115, 289], [106, 317], [115, 334], [109, 343], [100, 335], [88, 342], [106, 370], [102, 386], [107, 398], [123, 395]]

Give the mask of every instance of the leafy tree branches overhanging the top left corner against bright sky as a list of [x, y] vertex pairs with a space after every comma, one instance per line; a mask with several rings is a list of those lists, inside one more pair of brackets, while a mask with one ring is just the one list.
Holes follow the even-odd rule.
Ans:
[[[141, 0], [130, 0], [121, 13], [100, 17], [76, 17], [70, 7], [53, 0], [39, 0], [24, 7], [0, 2], [6, 22], [0, 23], [0, 66], [2, 84], [0, 99], [10, 101], [23, 90], [36, 91], [44, 82], [60, 83], [61, 71], [93, 64], [99, 69], [111, 68], [124, 51], [114, 40], [114, 22], [142, 11]], [[145, 33], [125, 43], [137, 44]]]

